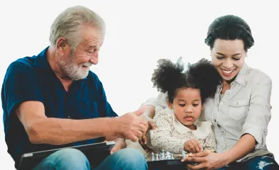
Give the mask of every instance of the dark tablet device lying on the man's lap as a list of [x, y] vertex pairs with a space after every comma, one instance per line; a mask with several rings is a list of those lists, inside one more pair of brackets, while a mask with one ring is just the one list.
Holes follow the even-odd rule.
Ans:
[[90, 166], [98, 166], [103, 159], [110, 155], [111, 149], [115, 146], [114, 141], [100, 142], [88, 145], [79, 145], [73, 147], [62, 147], [58, 149], [44, 150], [39, 152], [30, 152], [21, 156], [21, 162], [19, 163], [19, 169], [32, 169], [36, 164], [41, 162], [42, 159], [48, 157], [60, 149], [74, 148], [79, 149], [88, 157]]

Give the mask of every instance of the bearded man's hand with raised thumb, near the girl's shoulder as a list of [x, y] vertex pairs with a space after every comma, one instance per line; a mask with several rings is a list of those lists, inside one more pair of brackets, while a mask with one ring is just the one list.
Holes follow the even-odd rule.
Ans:
[[114, 122], [111, 125], [114, 135], [137, 142], [149, 127], [148, 121], [139, 116], [144, 113], [144, 109], [141, 108], [133, 113], [126, 113], [114, 118]]

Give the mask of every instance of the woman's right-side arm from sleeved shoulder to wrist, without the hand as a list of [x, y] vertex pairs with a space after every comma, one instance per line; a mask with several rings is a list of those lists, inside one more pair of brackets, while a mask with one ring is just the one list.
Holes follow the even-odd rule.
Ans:
[[265, 147], [265, 137], [268, 133], [268, 123], [271, 117], [271, 89], [272, 81], [266, 75], [261, 77], [260, 82], [255, 83], [251, 91], [247, 118], [243, 125], [243, 135], [233, 148], [223, 154], [228, 163], [245, 157], [254, 149]]

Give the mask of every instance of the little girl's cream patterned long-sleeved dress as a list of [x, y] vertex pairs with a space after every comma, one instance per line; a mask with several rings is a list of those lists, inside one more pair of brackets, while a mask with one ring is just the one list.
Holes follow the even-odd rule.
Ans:
[[173, 110], [165, 108], [154, 116], [154, 122], [158, 126], [156, 130], [147, 133], [147, 146], [152, 152], [166, 152], [181, 154], [184, 151], [184, 143], [187, 140], [199, 140], [204, 150], [215, 150], [216, 140], [211, 130], [211, 121], [197, 121], [196, 130], [186, 128], [177, 120]]

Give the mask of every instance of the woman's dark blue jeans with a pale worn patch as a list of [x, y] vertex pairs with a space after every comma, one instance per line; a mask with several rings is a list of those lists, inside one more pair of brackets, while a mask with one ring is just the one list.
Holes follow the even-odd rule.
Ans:
[[275, 159], [272, 155], [264, 155], [260, 157], [253, 157], [246, 162], [233, 162], [232, 164], [228, 164], [227, 166], [219, 169], [219, 170], [276, 170], [279, 169], [278, 164], [275, 162]]

